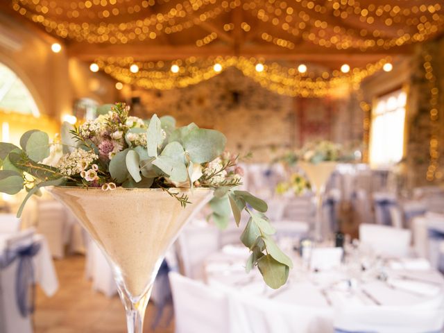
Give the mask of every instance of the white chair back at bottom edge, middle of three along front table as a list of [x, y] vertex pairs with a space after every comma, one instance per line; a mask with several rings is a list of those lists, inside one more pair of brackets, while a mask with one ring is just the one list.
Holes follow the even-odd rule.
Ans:
[[[264, 298], [230, 295], [232, 326], [241, 333], [332, 333], [325, 307], [298, 307]], [[324, 313], [325, 312], [325, 313]]]

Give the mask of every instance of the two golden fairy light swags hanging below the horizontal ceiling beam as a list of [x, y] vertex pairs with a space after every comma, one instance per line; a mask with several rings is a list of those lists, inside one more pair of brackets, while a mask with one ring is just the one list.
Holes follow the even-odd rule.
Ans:
[[[323, 97], [344, 94], [348, 92], [348, 89], [357, 89], [361, 80], [382, 70], [389, 60], [390, 58], [384, 58], [364, 68], [355, 68], [351, 74], [342, 74], [341, 71], [336, 70], [331, 74], [323, 72], [320, 76], [315, 76], [314, 73], [300, 74], [296, 68], [284, 67], [278, 62], [267, 62], [265, 65], [263, 62], [257, 62], [255, 58], [232, 56], [205, 59], [190, 57], [175, 60], [172, 65], [165, 64], [163, 61], [139, 62], [141, 71], [137, 74], [131, 74], [128, 70], [128, 66], [134, 62], [132, 57], [99, 58], [96, 62], [115, 80], [146, 89], [173, 89], [195, 85], [219, 75], [220, 72], [214, 70], [214, 65], [217, 63], [223, 69], [236, 67], [262, 87], [278, 94]], [[262, 71], [257, 71], [259, 64], [261, 65], [259, 69]], [[178, 72], [173, 73], [172, 68], [176, 68]]]

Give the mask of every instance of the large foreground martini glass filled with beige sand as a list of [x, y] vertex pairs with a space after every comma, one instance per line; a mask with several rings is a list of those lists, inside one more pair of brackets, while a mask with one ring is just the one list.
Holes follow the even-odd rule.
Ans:
[[69, 207], [110, 262], [126, 310], [128, 333], [142, 333], [146, 305], [165, 252], [194, 213], [211, 198], [210, 189], [171, 189], [187, 194], [184, 208], [162, 189], [113, 191], [51, 187]]

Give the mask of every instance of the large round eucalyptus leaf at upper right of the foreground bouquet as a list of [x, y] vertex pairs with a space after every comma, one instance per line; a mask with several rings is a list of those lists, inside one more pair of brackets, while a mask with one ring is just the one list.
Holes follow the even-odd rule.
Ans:
[[214, 160], [223, 153], [227, 139], [217, 130], [195, 128], [183, 138], [183, 146], [194, 163]]

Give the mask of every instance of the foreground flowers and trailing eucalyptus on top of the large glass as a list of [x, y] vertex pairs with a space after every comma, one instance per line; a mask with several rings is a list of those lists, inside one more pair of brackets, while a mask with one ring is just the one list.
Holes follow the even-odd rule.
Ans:
[[176, 128], [176, 120], [169, 116], [131, 117], [124, 103], [103, 105], [99, 112], [99, 117], [80, 126], [64, 123], [60, 138], [52, 143], [40, 130], [24, 133], [21, 148], [0, 143], [0, 191], [28, 191], [17, 216], [26, 200], [45, 186], [103, 191], [160, 188], [184, 207], [189, 197], [178, 188], [207, 187], [214, 189], [210, 206], [218, 225], [226, 225], [230, 214], [237, 225], [241, 212], [249, 215], [241, 235], [251, 251], [246, 271], [257, 266], [272, 288], [287, 281], [293, 264], [272, 238], [275, 229], [264, 214], [268, 206], [247, 191], [237, 190], [242, 169], [237, 156], [224, 152], [222, 133], [195, 123]]

